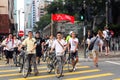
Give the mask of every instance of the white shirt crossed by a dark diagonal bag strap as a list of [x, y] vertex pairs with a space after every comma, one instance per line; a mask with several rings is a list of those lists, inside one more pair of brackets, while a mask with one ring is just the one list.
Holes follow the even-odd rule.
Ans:
[[[66, 42], [65, 42], [63, 39], [61, 39], [59, 42], [60, 42], [63, 46], [66, 45]], [[62, 53], [62, 52], [64, 51], [64, 49], [63, 49], [62, 46], [59, 44], [59, 42], [58, 42], [57, 40], [55, 40], [55, 41], [53, 42], [52, 48], [55, 48], [55, 53], [56, 53], [56, 55], [64, 55], [64, 54]]]

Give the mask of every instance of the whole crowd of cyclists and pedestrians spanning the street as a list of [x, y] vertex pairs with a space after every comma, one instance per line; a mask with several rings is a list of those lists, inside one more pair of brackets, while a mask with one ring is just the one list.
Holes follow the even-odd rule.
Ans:
[[[110, 33], [108, 27], [105, 27], [103, 31], [98, 31], [97, 33], [92, 33], [88, 31], [88, 36], [86, 39], [86, 51], [92, 51], [93, 62], [95, 67], [98, 67], [98, 54], [103, 51], [103, 44], [105, 44], [105, 55], [109, 55], [109, 40]], [[93, 46], [90, 49], [91, 45]], [[38, 69], [37, 64], [40, 63], [40, 58], [44, 54], [46, 50], [46, 46], [49, 49], [50, 53], [55, 50], [56, 59], [61, 62], [60, 69], [61, 75], [63, 76], [63, 65], [65, 62], [65, 55], [68, 53], [72, 56], [72, 66], [73, 70], [76, 70], [76, 64], [78, 63], [78, 46], [79, 39], [76, 37], [76, 33], [74, 31], [70, 31], [67, 37], [63, 37], [61, 32], [57, 32], [56, 38], [53, 35], [50, 35], [49, 38], [46, 39], [40, 37], [40, 32], [35, 33], [35, 37], [33, 36], [33, 32], [28, 32], [28, 37], [24, 40], [17, 39], [16, 36], [13, 36], [11, 33], [6, 37], [2, 42], [1, 46], [3, 46], [4, 55], [6, 58], [6, 64], [13, 65], [13, 53], [16, 52], [18, 55], [22, 47], [26, 47], [26, 54], [28, 55], [28, 63], [29, 63], [29, 72], [32, 71], [31, 61], [34, 65], [34, 72], [37, 75]]]

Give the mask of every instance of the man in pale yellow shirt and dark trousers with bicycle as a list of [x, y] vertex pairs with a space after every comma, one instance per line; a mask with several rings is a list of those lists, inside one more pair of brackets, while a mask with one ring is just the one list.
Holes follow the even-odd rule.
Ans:
[[39, 72], [37, 69], [37, 65], [36, 65], [36, 40], [35, 38], [32, 37], [33, 36], [33, 32], [29, 31], [28, 32], [28, 38], [26, 38], [23, 42], [22, 45], [20, 46], [19, 50], [23, 47], [23, 46], [27, 46], [27, 59], [28, 59], [28, 65], [29, 65], [29, 70], [28, 72], [31, 73], [32, 69], [31, 69], [31, 62], [34, 65], [34, 75], [36, 76]]

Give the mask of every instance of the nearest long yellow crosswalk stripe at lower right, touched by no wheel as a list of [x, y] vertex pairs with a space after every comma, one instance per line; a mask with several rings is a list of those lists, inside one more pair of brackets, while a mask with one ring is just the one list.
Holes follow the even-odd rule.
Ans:
[[83, 79], [91, 79], [91, 78], [98, 78], [98, 77], [105, 77], [105, 76], [111, 76], [112, 73], [104, 73], [104, 74], [97, 74], [97, 75], [91, 75], [91, 76], [84, 76], [84, 77], [78, 77], [78, 78], [70, 78], [70, 79], [64, 79], [64, 80], [83, 80]]

